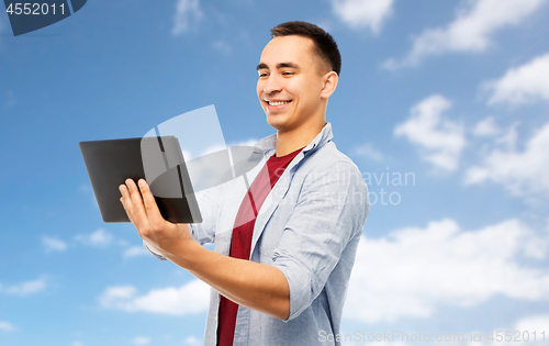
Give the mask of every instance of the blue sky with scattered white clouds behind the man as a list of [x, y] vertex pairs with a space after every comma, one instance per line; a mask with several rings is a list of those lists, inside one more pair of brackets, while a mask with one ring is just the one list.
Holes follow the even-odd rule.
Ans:
[[78, 142], [210, 104], [228, 144], [271, 134], [255, 67], [290, 20], [339, 45], [327, 119], [371, 193], [341, 331], [547, 343], [548, 2], [90, 0], [18, 37], [0, 14], [0, 345], [201, 344], [203, 284], [102, 223]]

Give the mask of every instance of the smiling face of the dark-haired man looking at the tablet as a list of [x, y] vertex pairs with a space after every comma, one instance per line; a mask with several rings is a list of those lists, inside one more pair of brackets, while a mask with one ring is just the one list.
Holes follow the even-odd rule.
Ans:
[[267, 44], [257, 68], [257, 96], [269, 125], [287, 132], [324, 116], [321, 64], [311, 38], [279, 36]]

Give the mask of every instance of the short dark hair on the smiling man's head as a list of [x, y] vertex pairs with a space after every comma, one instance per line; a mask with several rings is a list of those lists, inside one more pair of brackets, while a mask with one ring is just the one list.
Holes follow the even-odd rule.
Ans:
[[303, 36], [313, 40], [315, 53], [330, 66], [338, 76], [341, 70], [341, 55], [330, 34], [323, 29], [307, 22], [285, 22], [271, 29], [272, 37]]

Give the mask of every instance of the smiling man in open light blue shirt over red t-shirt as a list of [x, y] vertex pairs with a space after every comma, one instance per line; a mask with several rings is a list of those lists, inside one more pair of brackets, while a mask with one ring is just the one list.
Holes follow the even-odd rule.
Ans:
[[[360, 171], [325, 120], [339, 51], [313, 24], [271, 32], [257, 94], [277, 134], [256, 145], [266, 164], [249, 189], [233, 180], [206, 191], [201, 224], [165, 221], [143, 179], [121, 186], [121, 202], [157, 257], [212, 287], [205, 345], [338, 345], [325, 336], [339, 333], [369, 213]], [[211, 242], [213, 252], [201, 246]]]

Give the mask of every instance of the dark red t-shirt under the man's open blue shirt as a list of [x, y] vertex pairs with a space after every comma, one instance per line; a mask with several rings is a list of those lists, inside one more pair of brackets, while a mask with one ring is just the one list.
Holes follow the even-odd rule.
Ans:
[[[251, 248], [251, 236], [258, 211], [261, 209], [265, 199], [284, 172], [290, 161], [302, 150], [300, 148], [285, 156], [271, 156], [264, 166], [256, 180], [249, 187], [248, 193], [240, 203], [236, 214], [233, 237], [231, 238], [229, 256], [240, 259], [249, 259]], [[220, 312], [217, 317], [217, 345], [233, 346], [235, 336], [236, 314], [238, 304], [220, 297]]]

